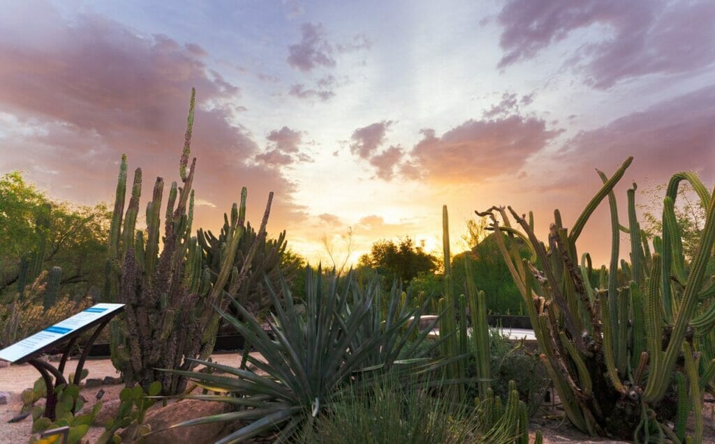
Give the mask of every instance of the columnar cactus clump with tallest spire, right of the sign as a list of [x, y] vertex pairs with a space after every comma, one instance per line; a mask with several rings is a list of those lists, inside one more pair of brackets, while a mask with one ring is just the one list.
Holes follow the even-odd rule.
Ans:
[[[147, 389], [150, 383], [159, 381], [164, 394], [182, 392], [186, 378], [159, 369], [191, 370], [196, 365], [192, 359], [209, 357], [220, 318], [215, 308], [226, 309], [228, 296], [239, 293], [250, 268], [250, 261], [243, 263], [241, 268], [234, 266], [246, 230], [246, 188], [242, 189], [240, 206], [233, 205], [215, 272], [204, 266], [202, 247], [197, 238], [191, 236], [195, 158], [188, 173], [186, 171], [194, 95], [192, 91], [184, 150], [179, 162], [182, 186], [173, 182], [164, 203], [164, 180], [157, 178], [152, 201], [147, 203], [147, 229], [137, 231], [142, 170], [137, 168], [134, 173], [132, 195], [124, 213], [127, 158], [122, 156], [109, 233], [106, 298], [126, 304], [124, 316], [111, 328], [113, 363], [122, 371], [127, 385], [139, 383]], [[272, 193], [257, 238], [265, 237], [271, 202]], [[164, 234], [159, 248], [162, 225]]]

